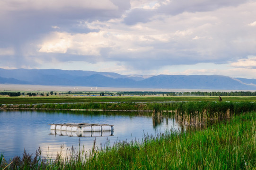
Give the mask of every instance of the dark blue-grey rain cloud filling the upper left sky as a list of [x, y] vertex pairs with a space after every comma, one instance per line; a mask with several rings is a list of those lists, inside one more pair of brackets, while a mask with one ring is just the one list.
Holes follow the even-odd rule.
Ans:
[[[122, 3], [118, 0], [111, 1], [114, 5], [109, 5], [109, 8], [105, 8], [104, 6], [98, 8], [97, 4], [95, 8], [83, 6], [69, 7], [69, 0], [61, 1], [61, 4], [67, 2], [67, 6], [51, 4], [51, 2], [47, 4], [49, 2], [48, 0], [46, 0], [45, 4], [42, 3], [41, 5], [36, 4], [35, 1], [31, 3], [29, 1], [5, 1], [5, 6], [0, 7], [2, 14], [0, 15], [0, 48], [12, 47], [14, 49], [15, 57], [8, 56], [7, 59], [13, 67], [33, 63], [31, 57], [29, 59], [25, 57], [27, 55], [24, 53], [26, 52], [25, 48], [28, 44], [34, 44], [28, 48], [35, 54], [34, 56], [37, 56], [35, 43], [44, 37], [45, 34], [55, 31], [53, 26], [58, 26], [60, 28], [58, 31], [61, 32], [89, 33], [97, 30], [80, 26], [80, 22], [91, 22], [94, 20], [106, 21], [112, 18], [118, 18], [130, 7], [129, 0], [123, 0]], [[72, 3], [76, 2], [82, 3], [80, 0], [73, 1]], [[34, 51], [31, 48], [34, 48]], [[44, 57], [47, 55], [44, 54]], [[32, 67], [35, 64], [34, 62]], [[0, 67], [4, 65], [7, 64], [2, 63]]]

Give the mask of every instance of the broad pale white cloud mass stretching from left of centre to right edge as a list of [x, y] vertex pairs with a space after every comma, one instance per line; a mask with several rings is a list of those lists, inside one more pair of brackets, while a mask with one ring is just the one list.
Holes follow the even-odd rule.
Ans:
[[[41, 42], [39, 52], [59, 51], [88, 62], [120, 61], [126, 68], [138, 71], [157, 70], [168, 65], [227, 63], [256, 52], [252, 43], [254, 36], [238, 32], [246, 30], [247, 26], [234, 25], [232, 18], [244, 12], [246, 7], [221, 8], [217, 13], [160, 15], [160, 18], [128, 27], [122, 20], [84, 22], [81, 26], [98, 31], [84, 34], [55, 32], [57, 38], [54, 39], [51, 37], [55, 35], [49, 34]], [[244, 17], [236, 18], [236, 22], [245, 22]], [[78, 58], [76, 55], [91, 57]]]

